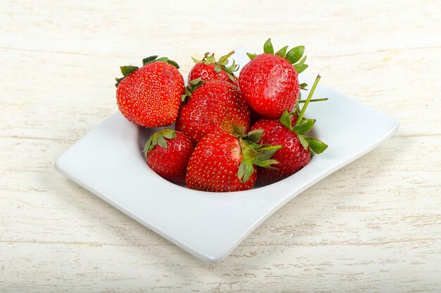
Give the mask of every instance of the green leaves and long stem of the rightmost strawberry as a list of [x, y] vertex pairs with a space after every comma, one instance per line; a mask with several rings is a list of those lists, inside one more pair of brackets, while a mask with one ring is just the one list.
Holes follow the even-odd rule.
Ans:
[[[326, 148], [328, 148], [328, 145], [323, 143], [322, 141], [319, 141], [317, 138], [313, 138], [311, 136], [304, 136], [304, 134], [307, 134], [309, 131], [311, 131], [312, 127], [316, 123], [316, 119], [306, 119], [303, 117], [306, 108], [309, 105], [309, 102], [311, 102], [311, 98], [313, 96], [314, 91], [316, 90], [317, 84], [320, 81], [320, 75], [317, 76], [316, 81], [314, 82], [311, 91], [309, 92], [308, 98], [304, 101], [304, 105], [302, 107], [302, 110], [300, 110], [299, 114], [297, 115], [296, 123], [292, 125], [292, 117], [296, 115], [297, 113], [289, 113], [287, 110], [283, 112], [282, 116], [280, 117], [280, 123], [283, 124], [287, 129], [290, 129], [293, 131], [297, 136], [299, 137], [300, 143], [302, 143], [302, 146], [307, 149], [309, 148], [311, 151], [315, 152], [316, 154], [321, 154]], [[317, 100], [328, 100], [325, 99], [317, 99]]]

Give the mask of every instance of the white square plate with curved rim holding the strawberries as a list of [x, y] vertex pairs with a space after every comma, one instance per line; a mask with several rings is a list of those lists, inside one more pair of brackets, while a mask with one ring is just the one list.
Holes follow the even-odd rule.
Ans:
[[[245, 52], [238, 49], [233, 56], [241, 67], [248, 62]], [[320, 84], [314, 97], [329, 98], [309, 104], [306, 113], [317, 119], [316, 137], [329, 148], [293, 176], [265, 187], [206, 193], [165, 181], [141, 153], [154, 129], [137, 127], [119, 112], [66, 150], [55, 167], [175, 245], [216, 263], [286, 202], [373, 150], [398, 128], [395, 119]]]

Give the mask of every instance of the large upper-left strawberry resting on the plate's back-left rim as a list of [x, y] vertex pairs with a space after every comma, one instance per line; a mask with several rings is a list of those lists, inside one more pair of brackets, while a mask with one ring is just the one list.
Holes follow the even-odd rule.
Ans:
[[168, 126], [175, 122], [185, 90], [178, 64], [151, 56], [144, 66], [122, 66], [124, 77], [116, 79], [118, 108], [126, 119], [144, 127]]

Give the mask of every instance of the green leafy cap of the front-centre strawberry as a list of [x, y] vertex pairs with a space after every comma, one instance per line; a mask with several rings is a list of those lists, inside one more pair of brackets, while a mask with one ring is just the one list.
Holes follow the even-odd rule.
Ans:
[[254, 172], [254, 165], [267, 169], [276, 169], [271, 166], [278, 164], [275, 159], [271, 159], [275, 152], [282, 148], [282, 145], [259, 144], [263, 136], [263, 129], [249, 131], [248, 134], [239, 137], [240, 148], [242, 150], [242, 161], [237, 171], [237, 178], [246, 183]]

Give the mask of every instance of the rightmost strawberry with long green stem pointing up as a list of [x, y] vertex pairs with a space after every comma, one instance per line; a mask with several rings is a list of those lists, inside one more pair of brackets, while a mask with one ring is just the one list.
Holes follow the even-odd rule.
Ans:
[[328, 145], [325, 145], [325, 143], [316, 138], [303, 136], [311, 130], [316, 122], [313, 119], [304, 119], [303, 115], [308, 103], [311, 101], [313, 91], [316, 89], [319, 79], [320, 77], [317, 77], [316, 82], [314, 82], [302, 112], [298, 114], [298, 119], [295, 116], [291, 116], [285, 110], [280, 120], [261, 119], [251, 127], [251, 131], [263, 130], [263, 136], [259, 143], [282, 145], [282, 148], [273, 156], [273, 159], [279, 162], [277, 169], [259, 168], [259, 183], [274, 183], [294, 174], [309, 163], [311, 160], [311, 150], [320, 154], [328, 148]]

